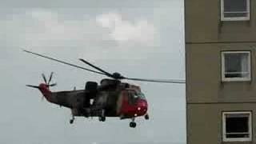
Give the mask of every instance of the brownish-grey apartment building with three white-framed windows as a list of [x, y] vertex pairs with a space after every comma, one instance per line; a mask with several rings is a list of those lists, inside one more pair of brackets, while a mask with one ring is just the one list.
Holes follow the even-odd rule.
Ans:
[[256, 144], [256, 1], [185, 0], [188, 144]]

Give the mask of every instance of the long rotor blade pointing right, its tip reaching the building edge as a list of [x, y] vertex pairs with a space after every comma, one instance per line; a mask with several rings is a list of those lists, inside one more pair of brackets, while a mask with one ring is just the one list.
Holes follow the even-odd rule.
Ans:
[[175, 79], [143, 79], [143, 78], [124, 78], [133, 81], [142, 81], [142, 82], [162, 82], [162, 83], [178, 83], [184, 84], [185, 80], [175, 80]]

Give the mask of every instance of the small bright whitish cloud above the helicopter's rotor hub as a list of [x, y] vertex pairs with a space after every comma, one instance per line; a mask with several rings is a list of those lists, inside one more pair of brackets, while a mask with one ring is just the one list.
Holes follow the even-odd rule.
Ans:
[[154, 25], [146, 20], [130, 22], [124, 20], [121, 14], [110, 12], [98, 15], [98, 24], [110, 30], [110, 38], [116, 42], [135, 42], [146, 46], [154, 44]]

